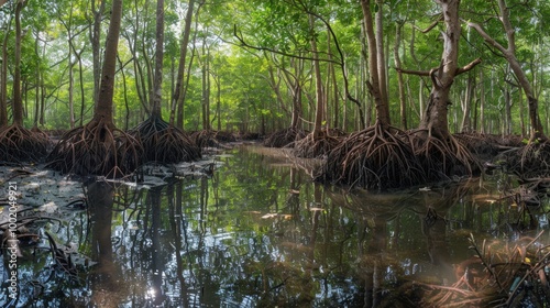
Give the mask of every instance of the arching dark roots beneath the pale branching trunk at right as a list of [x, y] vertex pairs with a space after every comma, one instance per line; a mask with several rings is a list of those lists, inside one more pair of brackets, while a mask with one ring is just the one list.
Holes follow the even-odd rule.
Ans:
[[416, 155], [428, 180], [472, 176], [480, 170], [477, 160], [452, 135], [447, 139], [427, 136], [418, 143]]

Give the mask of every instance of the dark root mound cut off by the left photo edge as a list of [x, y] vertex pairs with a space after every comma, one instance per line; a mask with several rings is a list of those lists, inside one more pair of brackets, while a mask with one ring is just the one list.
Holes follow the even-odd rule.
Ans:
[[0, 129], [0, 161], [41, 161], [48, 146], [48, 138], [42, 132], [13, 124]]

